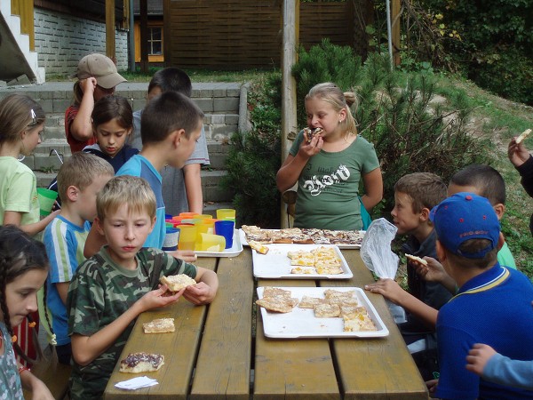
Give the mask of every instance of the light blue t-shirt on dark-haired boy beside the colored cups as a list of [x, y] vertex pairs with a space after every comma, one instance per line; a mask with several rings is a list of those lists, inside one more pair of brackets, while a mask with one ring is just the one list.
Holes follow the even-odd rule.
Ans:
[[116, 175], [132, 175], [144, 178], [150, 184], [155, 193], [155, 203], [157, 210], [155, 211], [155, 226], [147, 240], [144, 247], [155, 247], [156, 249], [163, 248], [164, 236], [166, 234], [166, 227], [164, 224], [164, 203], [163, 203], [163, 189], [161, 174], [154, 168], [144, 156], [132, 156], [126, 164], [116, 172]]

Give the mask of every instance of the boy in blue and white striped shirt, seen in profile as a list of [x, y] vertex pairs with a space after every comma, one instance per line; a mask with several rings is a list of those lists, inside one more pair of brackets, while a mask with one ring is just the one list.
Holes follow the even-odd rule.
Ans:
[[68, 284], [85, 260], [85, 240], [96, 216], [96, 195], [114, 174], [106, 160], [86, 153], [73, 154], [58, 173], [61, 212], [44, 230], [50, 270], [39, 296], [39, 316], [49, 340], [57, 344], [61, 364], [70, 364], [72, 355], [65, 308]]

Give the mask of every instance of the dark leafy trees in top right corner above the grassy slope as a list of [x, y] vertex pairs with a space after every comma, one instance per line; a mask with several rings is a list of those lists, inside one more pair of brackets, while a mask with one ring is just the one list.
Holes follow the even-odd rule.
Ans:
[[402, 64], [463, 71], [490, 91], [533, 104], [533, 0], [403, 1]]

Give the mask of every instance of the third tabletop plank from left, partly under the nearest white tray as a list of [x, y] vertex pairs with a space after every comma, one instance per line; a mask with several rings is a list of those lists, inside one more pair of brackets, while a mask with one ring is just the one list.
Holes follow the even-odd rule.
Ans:
[[[259, 280], [258, 286], [315, 286], [313, 280]], [[327, 339], [275, 340], [258, 309], [254, 399], [339, 399]]]

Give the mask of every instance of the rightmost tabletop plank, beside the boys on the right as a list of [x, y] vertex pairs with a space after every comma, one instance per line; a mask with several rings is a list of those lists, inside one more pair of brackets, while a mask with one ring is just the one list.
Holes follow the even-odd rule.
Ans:
[[[343, 250], [354, 277], [349, 280], [321, 281], [321, 285], [356, 286], [374, 282], [370, 270], [362, 262], [359, 251]], [[375, 340], [332, 340], [337, 359], [339, 380], [345, 399], [400, 399], [429, 398], [426, 384], [402, 339], [383, 296], [366, 292], [377, 309], [390, 334]], [[364, 368], [356, 368], [364, 365]], [[382, 373], [377, 373], [382, 372]], [[386, 372], [386, 373], [385, 373]]]

